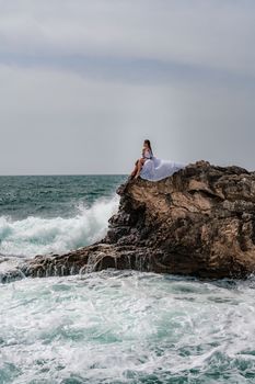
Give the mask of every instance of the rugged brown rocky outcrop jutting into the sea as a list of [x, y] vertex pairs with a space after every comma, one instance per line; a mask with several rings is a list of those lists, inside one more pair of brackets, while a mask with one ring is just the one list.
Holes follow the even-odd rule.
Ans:
[[255, 271], [255, 173], [198, 161], [159, 182], [128, 181], [106, 237], [63, 256], [38, 256], [14, 272], [47, 276], [137, 269], [200, 278]]

